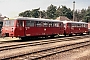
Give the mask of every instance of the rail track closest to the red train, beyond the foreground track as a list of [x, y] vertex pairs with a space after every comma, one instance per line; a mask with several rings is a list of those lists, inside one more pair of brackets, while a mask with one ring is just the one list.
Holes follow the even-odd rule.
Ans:
[[9, 49], [16, 49], [16, 48], [23, 48], [28, 46], [37, 46], [37, 45], [44, 45], [50, 43], [57, 43], [57, 42], [64, 42], [64, 41], [71, 41], [77, 39], [87, 38], [87, 36], [76, 36], [76, 37], [66, 37], [66, 38], [56, 38], [56, 39], [49, 39], [49, 40], [42, 40], [42, 41], [34, 41], [34, 42], [24, 42], [24, 43], [1, 43], [0, 51], [9, 50]]

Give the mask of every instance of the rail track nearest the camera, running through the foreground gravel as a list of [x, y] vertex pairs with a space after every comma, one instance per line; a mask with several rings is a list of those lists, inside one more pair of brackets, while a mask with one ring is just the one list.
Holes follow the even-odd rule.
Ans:
[[[74, 43], [74, 44], [67, 44], [64, 46], [55, 46], [55, 47], [51, 47], [51, 48], [49, 47], [47, 49], [41, 49], [41, 50], [38, 50], [35, 52], [31, 52], [29, 54], [25, 54], [24, 56], [21, 55], [21, 57], [19, 57], [19, 58], [26, 59], [26, 60], [37, 60], [37, 59], [41, 59], [41, 58], [44, 58], [47, 56], [51, 56], [51, 55], [58, 54], [58, 53], [63, 53], [66, 51], [70, 51], [70, 50], [88, 46], [88, 45], [90, 45], [90, 41]], [[11, 60], [16, 60], [19, 58], [15, 58], [15, 59], [11, 59]]]

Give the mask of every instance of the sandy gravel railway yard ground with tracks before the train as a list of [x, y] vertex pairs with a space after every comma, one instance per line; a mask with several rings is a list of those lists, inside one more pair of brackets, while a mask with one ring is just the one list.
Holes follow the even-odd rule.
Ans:
[[1, 60], [89, 60], [90, 36], [41, 38], [22, 41], [0, 38]]

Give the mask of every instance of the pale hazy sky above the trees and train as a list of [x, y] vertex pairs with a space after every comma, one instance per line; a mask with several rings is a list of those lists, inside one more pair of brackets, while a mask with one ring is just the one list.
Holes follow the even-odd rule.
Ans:
[[16, 17], [19, 13], [26, 10], [41, 8], [46, 10], [51, 4], [54, 6], [66, 6], [73, 9], [73, 1], [75, 1], [75, 9], [87, 9], [90, 6], [90, 0], [0, 0], [0, 14], [7, 17]]

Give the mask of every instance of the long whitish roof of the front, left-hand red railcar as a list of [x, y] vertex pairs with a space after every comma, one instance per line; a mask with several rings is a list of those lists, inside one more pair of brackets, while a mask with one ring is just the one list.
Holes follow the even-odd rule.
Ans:
[[32, 20], [32, 21], [45, 21], [45, 22], [61, 22], [60, 20], [43, 19], [43, 18], [29, 18], [29, 17], [18, 17], [9, 20]]

